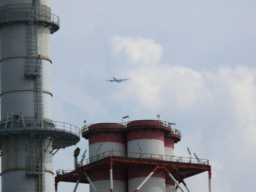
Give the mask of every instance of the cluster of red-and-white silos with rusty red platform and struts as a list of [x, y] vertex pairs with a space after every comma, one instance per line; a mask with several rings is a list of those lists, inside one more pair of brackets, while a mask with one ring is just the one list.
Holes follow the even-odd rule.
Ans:
[[[181, 134], [172, 129], [173, 124], [136, 120], [82, 127], [82, 136], [89, 140], [89, 158], [75, 161], [73, 171], [57, 170], [55, 192], [58, 182], [76, 183], [73, 192], [79, 183], [89, 183], [90, 192], [175, 192], [178, 188], [190, 192], [184, 180], [205, 171], [210, 192], [209, 161], [174, 156]], [[74, 156], [77, 159], [78, 153]]]

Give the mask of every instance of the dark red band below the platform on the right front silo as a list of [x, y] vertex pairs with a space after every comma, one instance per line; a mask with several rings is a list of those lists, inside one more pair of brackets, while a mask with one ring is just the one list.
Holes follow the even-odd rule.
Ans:
[[[154, 169], [154, 166], [132, 167], [128, 170], [128, 179], [147, 177], [149, 173]], [[150, 172], [149, 172], [150, 171]], [[165, 178], [165, 171], [157, 169], [151, 176], [153, 178]]]

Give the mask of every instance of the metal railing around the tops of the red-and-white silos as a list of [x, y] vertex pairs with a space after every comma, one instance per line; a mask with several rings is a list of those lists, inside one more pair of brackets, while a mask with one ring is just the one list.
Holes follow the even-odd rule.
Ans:
[[[142, 120], [142, 121], [147, 122], [148, 120]], [[128, 122], [125, 122], [123, 124], [120, 123], [120, 125], [124, 125], [124, 128], [121, 126], [121, 127], [112, 127], [111, 129], [112, 130], [124, 130], [125, 131], [127, 129], [127, 124], [130, 123], [130, 122], [133, 122], [133, 121], [128, 121]], [[136, 121], [134, 121], [134, 122], [136, 122]], [[143, 127], [143, 126], [148, 126], [148, 127], [154, 127], [155, 126], [156, 128], [163, 127], [164, 129], [169, 130], [170, 134], [175, 135], [177, 137], [182, 137], [182, 134], [180, 133], [179, 130], [172, 129], [171, 125], [175, 125], [174, 123], [169, 123], [167, 121], [161, 121], [161, 120], [156, 120], [155, 122], [156, 122], [156, 124], [150, 124], [150, 125], [148, 125], [146, 123], [145, 124], [141, 124], [140, 123], [139, 125], [137, 125], [135, 123], [134, 128], [136, 128], [136, 127]], [[83, 126], [81, 128], [82, 134], [87, 132], [87, 131], [102, 130], [102, 127], [103, 127], [102, 124], [104, 124], [104, 123], [100, 123], [99, 124], [100, 127], [97, 126], [97, 124], [85, 125], [85, 126]], [[106, 123], [106, 125], [107, 124], [108, 123]], [[108, 127], [108, 129], [110, 129], [110, 128]]]

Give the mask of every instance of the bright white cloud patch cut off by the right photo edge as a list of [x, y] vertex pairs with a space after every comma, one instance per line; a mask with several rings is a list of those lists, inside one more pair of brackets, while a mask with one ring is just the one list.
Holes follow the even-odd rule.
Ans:
[[216, 74], [210, 76], [210, 81], [215, 82], [215, 89], [221, 89], [229, 95], [233, 103], [234, 122], [237, 124], [237, 130], [233, 134], [242, 136], [250, 149], [256, 148], [253, 139], [256, 137], [255, 79], [256, 69], [245, 66], [237, 66], [234, 69], [222, 67]]

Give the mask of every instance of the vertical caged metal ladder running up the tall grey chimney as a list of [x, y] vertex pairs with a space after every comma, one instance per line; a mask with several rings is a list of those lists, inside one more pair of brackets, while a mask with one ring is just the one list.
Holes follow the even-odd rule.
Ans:
[[[29, 11], [28, 31], [27, 31], [27, 58], [25, 61], [25, 76], [34, 79], [34, 111], [35, 111], [35, 126], [43, 126], [43, 68], [42, 59], [37, 51], [37, 17], [40, 1], [33, 1], [33, 9]], [[39, 11], [40, 12], [40, 11]], [[44, 146], [43, 136], [41, 137], [41, 145], [37, 143], [36, 134], [32, 134], [31, 151], [27, 156], [26, 173], [37, 176], [38, 192], [45, 191], [45, 175], [44, 175]], [[41, 146], [41, 147], [39, 147]], [[38, 149], [41, 148], [41, 153]]]

